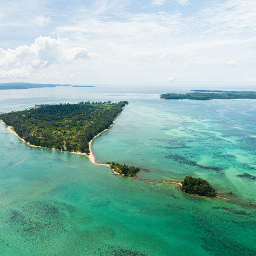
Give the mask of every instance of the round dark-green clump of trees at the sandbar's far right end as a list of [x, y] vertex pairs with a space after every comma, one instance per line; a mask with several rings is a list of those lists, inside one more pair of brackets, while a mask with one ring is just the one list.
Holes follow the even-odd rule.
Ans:
[[201, 178], [186, 176], [181, 184], [181, 189], [183, 189], [186, 193], [203, 195], [208, 197], [216, 196], [214, 188], [206, 180], [203, 180]]

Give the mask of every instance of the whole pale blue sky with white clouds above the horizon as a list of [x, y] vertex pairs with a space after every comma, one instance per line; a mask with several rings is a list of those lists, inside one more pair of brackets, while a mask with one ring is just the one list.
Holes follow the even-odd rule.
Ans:
[[0, 83], [256, 85], [256, 0], [0, 0]]

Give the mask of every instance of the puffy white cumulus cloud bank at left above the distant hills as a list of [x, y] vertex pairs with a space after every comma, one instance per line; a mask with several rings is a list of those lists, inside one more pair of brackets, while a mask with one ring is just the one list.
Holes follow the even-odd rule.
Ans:
[[93, 58], [96, 54], [86, 48], [68, 48], [61, 39], [39, 37], [31, 46], [16, 49], [0, 48], [0, 78], [26, 78], [53, 64]]

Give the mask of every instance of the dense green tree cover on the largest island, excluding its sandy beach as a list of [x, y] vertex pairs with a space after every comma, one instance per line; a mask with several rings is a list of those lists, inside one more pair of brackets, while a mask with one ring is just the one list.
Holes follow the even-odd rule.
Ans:
[[88, 142], [112, 123], [128, 102], [40, 105], [2, 113], [0, 119], [32, 145], [89, 153]]

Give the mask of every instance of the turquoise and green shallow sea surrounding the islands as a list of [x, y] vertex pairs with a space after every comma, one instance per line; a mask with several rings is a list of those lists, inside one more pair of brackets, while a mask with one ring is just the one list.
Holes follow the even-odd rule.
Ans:
[[146, 179], [202, 177], [226, 198], [113, 175], [87, 157], [30, 147], [0, 123], [0, 255], [256, 255], [256, 100], [159, 98], [188, 91], [0, 91], [0, 112], [42, 103], [128, 100], [111, 129], [93, 141], [96, 161], [138, 166], [138, 176]]

